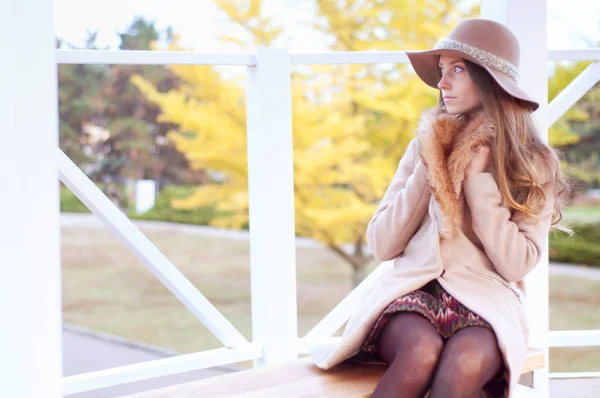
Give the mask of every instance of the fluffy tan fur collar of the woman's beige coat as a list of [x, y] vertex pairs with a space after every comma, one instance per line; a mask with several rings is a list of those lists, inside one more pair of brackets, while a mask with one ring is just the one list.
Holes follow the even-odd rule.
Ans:
[[426, 111], [419, 121], [417, 139], [421, 160], [427, 166], [431, 192], [444, 217], [442, 235], [461, 231], [460, 195], [465, 169], [482, 145], [490, 144], [495, 128], [482, 112], [465, 117], [451, 115], [441, 106]]

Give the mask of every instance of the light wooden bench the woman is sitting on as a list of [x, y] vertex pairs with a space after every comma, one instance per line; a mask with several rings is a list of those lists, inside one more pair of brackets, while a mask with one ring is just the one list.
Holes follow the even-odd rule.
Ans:
[[[544, 353], [530, 348], [522, 374], [544, 367]], [[311, 357], [253, 368], [132, 395], [135, 398], [369, 397], [383, 365], [340, 364], [316, 367]]]

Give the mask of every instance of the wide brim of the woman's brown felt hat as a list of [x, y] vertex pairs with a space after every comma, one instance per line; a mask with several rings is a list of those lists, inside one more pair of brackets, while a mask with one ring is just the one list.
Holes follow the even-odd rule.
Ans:
[[421, 78], [421, 80], [423, 80], [423, 82], [433, 88], [438, 88], [438, 58], [443, 54], [455, 55], [481, 66], [492, 76], [492, 78], [500, 87], [502, 87], [504, 91], [517, 99], [525, 101], [530, 106], [532, 112], [539, 108], [540, 104], [531, 98], [525, 91], [523, 91], [517, 85], [517, 82], [514, 81], [510, 76], [495, 69], [488, 68], [467, 53], [459, 50], [448, 49], [406, 51], [408, 60], [410, 61], [417, 75]]

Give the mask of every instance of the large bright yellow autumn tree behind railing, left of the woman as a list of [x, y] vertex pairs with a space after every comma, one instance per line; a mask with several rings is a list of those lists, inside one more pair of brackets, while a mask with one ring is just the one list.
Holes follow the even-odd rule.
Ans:
[[[269, 45], [280, 34], [262, 16], [259, 0], [217, 0], [248, 37], [227, 37], [240, 49]], [[371, 4], [376, 3], [376, 4]], [[465, 15], [460, 1], [318, 2], [316, 29], [334, 38], [332, 50], [425, 49]], [[410, 18], [407, 16], [410, 15]], [[171, 50], [180, 50], [175, 41]], [[246, 114], [243, 82], [215, 68], [173, 65], [184, 84], [160, 92], [141, 77], [137, 87], [161, 108], [161, 121], [191, 166], [219, 172], [223, 181], [198, 187], [173, 203], [216, 205], [230, 217], [212, 223], [241, 228], [248, 222]], [[323, 242], [365, 276], [372, 256], [363, 251], [368, 221], [414, 136], [419, 112], [436, 102], [406, 65], [302, 68], [292, 76], [294, 198], [297, 233]]]

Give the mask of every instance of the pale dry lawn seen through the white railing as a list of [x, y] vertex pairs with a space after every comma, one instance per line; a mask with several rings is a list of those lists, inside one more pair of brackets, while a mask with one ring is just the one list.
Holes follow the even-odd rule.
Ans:
[[[180, 231], [143, 232], [251, 340], [248, 242]], [[296, 258], [298, 333], [302, 336], [350, 292], [351, 268], [322, 248], [298, 248]], [[221, 347], [108, 230], [63, 227], [62, 261], [65, 322], [182, 353]], [[551, 328], [600, 329], [599, 285], [552, 277]], [[238, 365], [249, 366], [249, 362]], [[551, 371], [599, 369], [600, 349], [551, 352]]]

